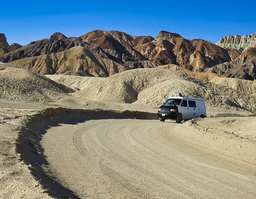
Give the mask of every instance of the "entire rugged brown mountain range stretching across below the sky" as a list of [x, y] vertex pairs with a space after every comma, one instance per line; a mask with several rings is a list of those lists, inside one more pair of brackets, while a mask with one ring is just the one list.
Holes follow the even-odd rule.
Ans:
[[[1, 41], [5, 41], [2, 46], [7, 46], [5, 37]], [[77, 46], [81, 47], [79, 51], [74, 48]], [[179, 70], [255, 78], [255, 47], [244, 51], [224, 49], [202, 39], [188, 40], [167, 31], [160, 31], [155, 39], [120, 31], [95, 30], [78, 38], [67, 38], [56, 32], [50, 39], [31, 42], [11, 52], [5, 49], [0, 61], [43, 74], [80, 71], [79, 75], [107, 77], [129, 69], [173, 64], [176, 67], [171, 68]]]

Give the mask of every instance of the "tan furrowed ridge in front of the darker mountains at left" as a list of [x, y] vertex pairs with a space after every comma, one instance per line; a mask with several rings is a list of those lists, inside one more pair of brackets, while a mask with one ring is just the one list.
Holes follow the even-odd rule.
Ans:
[[101, 48], [87, 44], [84, 47], [77, 46], [62, 52], [27, 57], [9, 63], [41, 74], [62, 74], [73, 71], [80, 75], [95, 77], [108, 77], [135, 68], [157, 67], [157, 64], [151, 61], [120, 64], [110, 58], [110, 55]]

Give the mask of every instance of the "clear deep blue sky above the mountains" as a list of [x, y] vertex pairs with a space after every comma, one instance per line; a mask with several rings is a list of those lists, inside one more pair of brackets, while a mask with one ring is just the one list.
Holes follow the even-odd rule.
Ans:
[[255, 1], [2, 1], [0, 33], [29, 44], [54, 32], [78, 37], [93, 30], [150, 35], [161, 30], [216, 43], [256, 32]]

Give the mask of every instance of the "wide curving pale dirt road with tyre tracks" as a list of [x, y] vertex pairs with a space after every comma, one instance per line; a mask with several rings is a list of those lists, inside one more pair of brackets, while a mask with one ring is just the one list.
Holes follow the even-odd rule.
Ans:
[[[47, 169], [80, 198], [255, 198], [255, 164], [202, 147], [185, 125], [138, 119], [61, 124], [42, 139]], [[228, 138], [218, 139], [223, 146], [217, 148], [225, 147]]]

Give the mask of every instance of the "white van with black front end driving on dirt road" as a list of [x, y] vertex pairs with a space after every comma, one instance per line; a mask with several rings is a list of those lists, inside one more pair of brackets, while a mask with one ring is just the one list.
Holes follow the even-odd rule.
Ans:
[[177, 123], [193, 118], [205, 118], [206, 107], [202, 98], [195, 97], [170, 97], [158, 108], [159, 120], [175, 119]]

